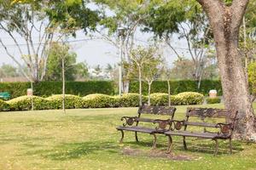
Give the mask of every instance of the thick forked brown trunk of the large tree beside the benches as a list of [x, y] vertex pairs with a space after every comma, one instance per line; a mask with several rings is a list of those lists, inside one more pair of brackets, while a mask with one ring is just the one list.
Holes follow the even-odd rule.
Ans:
[[256, 141], [253, 105], [238, 43], [248, 0], [233, 0], [231, 6], [226, 6], [221, 0], [197, 1], [206, 11], [212, 26], [225, 107], [238, 111], [236, 137]]

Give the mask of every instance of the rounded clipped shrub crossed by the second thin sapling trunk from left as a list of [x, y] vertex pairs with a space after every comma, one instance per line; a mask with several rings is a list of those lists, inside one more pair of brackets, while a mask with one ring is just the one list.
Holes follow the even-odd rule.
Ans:
[[[49, 103], [51, 109], [61, 109], [62, 108], [62, 100], [63, 96], [62, 94], [52, 95], [49, 98], [46, 98]], [[66, 109], [78, 109], [83, 108], [83, 99], [79, 96], [72, 95], [72, 94], [66, 94], [65, 95], [65, 108]]]

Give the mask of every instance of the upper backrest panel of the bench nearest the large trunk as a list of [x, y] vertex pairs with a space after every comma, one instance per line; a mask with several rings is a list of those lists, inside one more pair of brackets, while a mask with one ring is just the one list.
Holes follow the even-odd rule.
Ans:
[[230, 111], [227, 109], [212, 109], [212, 108], [188, 108], [186, 116], [197, 116], [201, 120], [207, 117], [212, 118], [226, 118], [228, 120], [235, 120], [237, 111]]

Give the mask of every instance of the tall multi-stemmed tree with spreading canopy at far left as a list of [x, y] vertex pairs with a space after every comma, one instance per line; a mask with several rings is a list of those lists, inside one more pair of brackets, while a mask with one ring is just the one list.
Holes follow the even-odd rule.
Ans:
[[[38, 82], [45, 76], [49, 44], [75, 35], [80, 28], [94, 29], [96, 19], [96, 12], [85, 8], [82, 0], [0, 0], [0, 31], [9, 36], [19, 54], [12, 54], [1, 37], [0, 43], [27, 80]], [[20, 61], [28, 67], [28, 73]]]

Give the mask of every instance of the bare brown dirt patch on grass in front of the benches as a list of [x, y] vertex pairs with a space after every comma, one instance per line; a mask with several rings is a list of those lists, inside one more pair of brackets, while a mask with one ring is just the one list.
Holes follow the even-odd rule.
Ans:
[[193, 161], [198, 160], [200, 157], [189, 156], [189, 155], [177, 155], [174, 153], [166, 154], [163, 150], [136, 150], [131, 148], [124, 148], [122, 154], [126, 156], [148, 156], [155, 158], [166, 158], [174, 161]]

